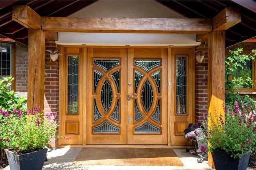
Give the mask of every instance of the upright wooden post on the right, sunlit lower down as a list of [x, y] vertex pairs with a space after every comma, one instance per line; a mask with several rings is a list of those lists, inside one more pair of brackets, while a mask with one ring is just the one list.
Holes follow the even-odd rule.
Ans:
[[[225, 100], [225, 31], [208, 34], [208, 113], [215, 111], [224, 116], [222, 104]], [[208, 126], [211, 123], [208, 122]], [[214, 167], [212, 156], [208, 154], [208, 164]]]

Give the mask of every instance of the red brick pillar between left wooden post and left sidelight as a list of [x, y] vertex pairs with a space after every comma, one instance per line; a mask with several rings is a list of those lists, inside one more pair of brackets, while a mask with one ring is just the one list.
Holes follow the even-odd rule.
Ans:
[[[58, 49], [58, 45], [54, 41], [46, 41], [46, 49]], [[59, 59], [52, 61], [50, 53], [46, 51], [45, 57], [45, 90], [44, 90], [44, 111], [52, 112], [56, 115], [58, 122], [59, 112]], [[58, 129], [56, 131], [58, 134]], [[56, 147], [58, 139], [52, 139], [49, 147]]]

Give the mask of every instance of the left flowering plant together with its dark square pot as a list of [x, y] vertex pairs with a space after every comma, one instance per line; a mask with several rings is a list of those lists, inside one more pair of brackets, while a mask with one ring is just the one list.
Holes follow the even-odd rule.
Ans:
[[0, 109], [0, 143], [6, 149], [10, 169], [41, 170], [46, 158], [46, 143], [56, 134], [58, 123], [52, 113], [37, 106], [21, 111]]

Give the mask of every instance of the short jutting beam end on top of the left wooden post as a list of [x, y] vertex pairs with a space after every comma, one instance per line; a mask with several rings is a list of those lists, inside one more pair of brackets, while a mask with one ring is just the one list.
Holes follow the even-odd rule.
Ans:
[[41, 16], [27, 5], [13, 6], [12, 20], [20, 23], [26, 28], [41, 28]]

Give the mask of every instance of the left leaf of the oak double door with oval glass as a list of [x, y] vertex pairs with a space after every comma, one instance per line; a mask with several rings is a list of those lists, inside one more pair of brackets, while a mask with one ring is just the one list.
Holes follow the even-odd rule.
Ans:
[[126, 144], [126, 56], [126, 49], [88, 49], [87, 144]]

